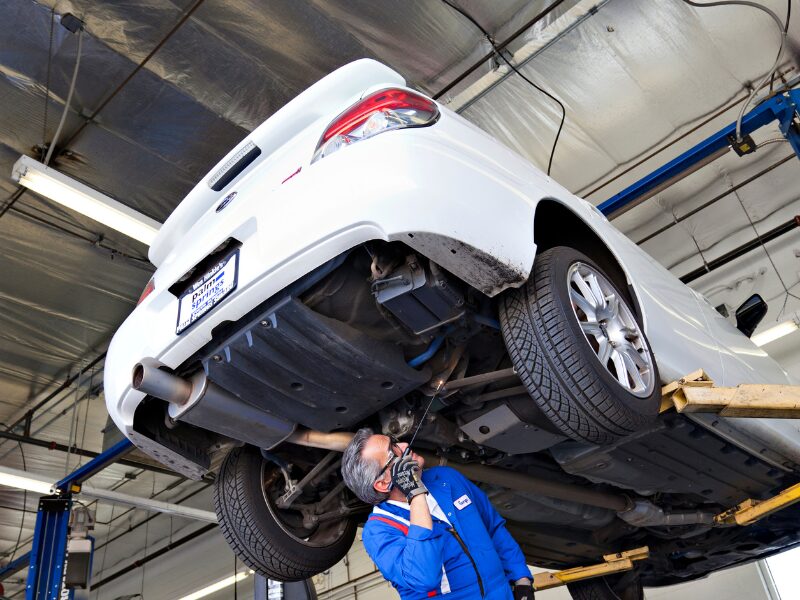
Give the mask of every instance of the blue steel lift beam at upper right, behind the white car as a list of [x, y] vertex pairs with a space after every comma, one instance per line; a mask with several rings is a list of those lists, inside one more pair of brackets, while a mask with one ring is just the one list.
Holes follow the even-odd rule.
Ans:
[[[768, 98], [744, 116], [742, 119], [742, 135], [749, 135], [777, 120], [781, 133], [789, 141], [795, 154], [800, 157], [800, 132], [794, 126], [794, 119], [799, 105], [800, 89], [789, 90]], [[667, 187], [679, 176], [695, 171], [725, 154], [731, 143], [729, 138], [735, 134], [736, 123], [734, 122], [671, 160], [660, 169], [653, 171], [612, 196], [597, 208], [608, 218], [621, 215]]]

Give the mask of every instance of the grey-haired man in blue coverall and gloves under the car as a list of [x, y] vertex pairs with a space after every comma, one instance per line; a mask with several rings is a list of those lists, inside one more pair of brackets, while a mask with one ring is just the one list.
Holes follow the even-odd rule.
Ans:
[[449, 467], [423, 472], [407, 446], [364, 428], [342, 458], [347, 487], [374, 505], [364, 547], [400, 597], [532, 599], [525, 557], [486, 495]]

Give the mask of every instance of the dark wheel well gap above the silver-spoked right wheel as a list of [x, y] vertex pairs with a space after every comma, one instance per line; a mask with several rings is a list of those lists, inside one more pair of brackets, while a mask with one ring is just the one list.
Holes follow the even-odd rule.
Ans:
[[636, 316], [641, 320], [639, 302], [632, 287], [628, 284], [628, 278], [622, 266], [600, 236], [566, 206], [555, 200], [539, 202], [533, 222], [533, 240], [536, 243], [536, 252], [542, 252], [555, 246], [569, 246], [591, 257], [614, 284], [627, 295], [636, 311]]

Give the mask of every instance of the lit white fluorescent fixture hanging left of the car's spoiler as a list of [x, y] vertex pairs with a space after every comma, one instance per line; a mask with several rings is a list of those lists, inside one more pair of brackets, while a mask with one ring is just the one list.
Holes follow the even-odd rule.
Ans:
[[22, 156], [14, 163], [11, 177], [29, 190], [63, 204], [71, 210], [116, 229], [148, 246], [153, 243], [161, 227], [161, 224], [155, 219], [151, 219], [29, 156]]

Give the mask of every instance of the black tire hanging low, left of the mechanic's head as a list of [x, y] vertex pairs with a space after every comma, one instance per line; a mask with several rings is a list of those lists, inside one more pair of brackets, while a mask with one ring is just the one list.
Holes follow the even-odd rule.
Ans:
[[[271, 501], [270, 491], [282, 480], [276, 474], [277, 467], [257, 449], [235, 448], [217, 475], [214, 507], [222, 535], [248, 567], [269, 579], [300, 581], [344, 557], [353, 544], [356, 522], [343, 518], [303, 529], [296, 515]], [[273, 485], [265, 489], [265, 481]]]

